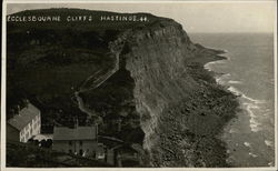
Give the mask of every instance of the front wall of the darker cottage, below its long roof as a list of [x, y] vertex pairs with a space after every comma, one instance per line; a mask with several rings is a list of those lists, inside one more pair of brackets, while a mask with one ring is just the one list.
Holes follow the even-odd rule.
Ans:
[[[81, 143], [80, 143], [81, 141]], [[67, 152], [67, 153], [76, 153], [85, 155], [93, 155], [98, 150], [98, 142], [96, 140], [53, 140], [52, 149], [56, 151]], [[71, 151], [70, 151], [71, 150]], [[80, 151], [82, 150], [82, 151]]]

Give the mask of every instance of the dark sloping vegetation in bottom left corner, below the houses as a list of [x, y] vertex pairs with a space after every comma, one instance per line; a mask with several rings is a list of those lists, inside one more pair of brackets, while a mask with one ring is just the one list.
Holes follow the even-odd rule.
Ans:
[[20, 168], [80, 168], [111, 167], [102, 161], [78, 157], [75, 154], [38, 148], [30, 143], [7, 143], [7, 167]]

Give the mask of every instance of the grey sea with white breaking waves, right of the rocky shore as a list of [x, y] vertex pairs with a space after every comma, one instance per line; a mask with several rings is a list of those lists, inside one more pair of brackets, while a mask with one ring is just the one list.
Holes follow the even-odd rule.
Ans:
[[228, 60], [205, 66], [238, 98], [241, 111], [226, 125], [227, 162], [232, 167], [275, 165], [274, 39], [267, 33], [193, 33], [193, 42], [227, 50]]

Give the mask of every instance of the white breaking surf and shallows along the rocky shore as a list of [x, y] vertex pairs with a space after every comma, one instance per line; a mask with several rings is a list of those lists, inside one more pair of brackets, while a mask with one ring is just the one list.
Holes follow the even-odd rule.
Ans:
[[[208, 62], [207, 64], [205, 64], [205, 68], [208, 71], [215, 72], [212, 70], [215, 64], [218, 66], [221, 64], [221, 62]], [[240, 109], [240, 111], [236, 113], [236, 118], [232, 118], [229, 122], [227, 122], [220, 135], [221, 141], [226, 143], [227, 153], [229, 155], [227, 162], [232, 167], [247, 167], [252, 163], [251, 159], [261, 159], [261, 161], [266, 162], [269, 159], [260, 155], [257, 150], [254, 150], [254, 147], [258, 145], [257, 141], [264, 141], [264, 144], [260, 143], [261, 145], [274, 148], [274, 140], [269, 140], [268, 137], [264, 137], [262, 139], [256, 141], [249, 140], [248, 138], [245, 139], [244, 135], [239, 133], [239, 131], [247, 131], [250, 139], [252, 139], [252, 137], [258, 133], [262, 133], [261, 131], [264, 131], [264, 127], [257, 114], [258, 112], [264, 112], [264, 104], [267, 103], [267, 101], [264, 99], [249, 97], [248, 93], [242, 92], [241, 89], [237, 87], [237, 84], [242, 84], [244, 81], [238, 81], [235, 78], [227, 79], [225, 78], [225, 76], [227, 74], [230, 73], [221, 74], [220, 77], [215, 76], [215, 79], [219, 84], [228, 88], [231, 93], [238, 97]], [[245, 150], [241, 152], [240, 148], [245, 148]], [[244, 155], [244, 161], [246, 161], [246, 163], [237, 160], [239, 155]], [[257, 167], [262, 165], [264, 162], [259, 163]], [[266, 167], [274, 167], [272, 161], [266, 162], [265, 164]]]

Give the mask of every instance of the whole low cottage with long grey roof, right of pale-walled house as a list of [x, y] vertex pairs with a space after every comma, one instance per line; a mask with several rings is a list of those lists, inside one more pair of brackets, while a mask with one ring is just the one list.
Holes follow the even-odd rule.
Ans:
[[53, 150], [90, 157], [103, 158], [102, 144], [98, 143], [98, 127], [54, 127]]

